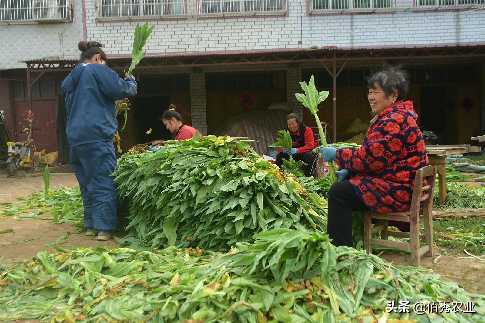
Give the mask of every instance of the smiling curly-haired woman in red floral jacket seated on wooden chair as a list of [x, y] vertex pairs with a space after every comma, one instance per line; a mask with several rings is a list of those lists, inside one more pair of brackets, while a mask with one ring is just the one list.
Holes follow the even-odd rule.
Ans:
[[429, 165], [413, 102], [403, 102], [407, 72], [385, 63], [367, 83], [376, 116], [362, 146], [321, 150], [323, 160], [335, 160], [340, 169], [328, 198], [327, 230], [335, 246], [353, 246], [353, 211], [408, 211], [416, 170]]

